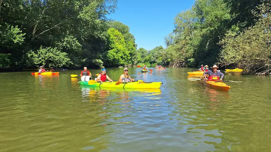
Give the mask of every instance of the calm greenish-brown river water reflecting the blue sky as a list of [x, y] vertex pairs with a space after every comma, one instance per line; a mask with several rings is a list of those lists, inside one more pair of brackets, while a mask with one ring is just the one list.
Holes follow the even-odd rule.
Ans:
[[[0, 73], [0, 152], [270, 151], [270, 76], [224, 76], [242, 81], [226, 82], [224, 92], [188, 81], [191, 68], [128, 69], [136, 80], [163, 84], [90, 88], [70, 77], [79, 70]], [[123, 68], [107, 71], [118, 80]]]

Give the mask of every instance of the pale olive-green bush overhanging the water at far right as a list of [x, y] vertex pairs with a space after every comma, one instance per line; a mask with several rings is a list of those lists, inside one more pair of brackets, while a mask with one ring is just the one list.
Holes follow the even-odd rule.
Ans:
[[244, 32], [229, 32], [221, 40], [223, 50], [219, 63], [224, 66], [241, 66], [247, 72], [271, 74], [271, 3], [261, 7], [261, 18]]

